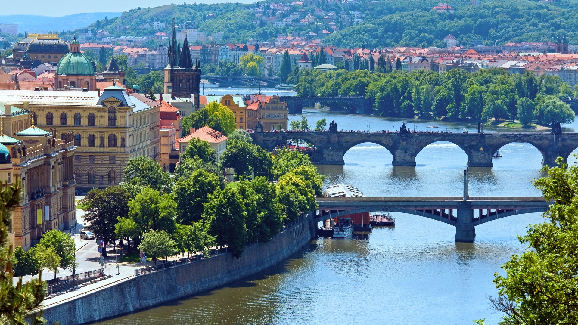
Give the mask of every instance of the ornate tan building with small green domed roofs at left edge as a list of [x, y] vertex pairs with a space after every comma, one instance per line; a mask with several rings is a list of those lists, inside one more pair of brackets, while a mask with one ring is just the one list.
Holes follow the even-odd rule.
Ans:
[[56, 139], [54, 130], [31, 126], [21, 108], [0, 103], [0, 111], [0, 179], [21, 180], [23, 193], [10, 240], [26, 250], [46, 231], [68, 230], [76, 220], [73, 135]]

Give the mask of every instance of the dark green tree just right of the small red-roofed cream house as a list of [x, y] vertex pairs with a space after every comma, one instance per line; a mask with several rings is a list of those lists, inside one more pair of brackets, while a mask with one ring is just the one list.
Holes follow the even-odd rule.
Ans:
[[271, 154], [267, 150], [239, 140], [227, 141], [227, 149], [221, 155], [221, 166], [235, 168], [237, 175], [249, 175], [253, 167], [255, 175], [269, 176], [271, 164]]

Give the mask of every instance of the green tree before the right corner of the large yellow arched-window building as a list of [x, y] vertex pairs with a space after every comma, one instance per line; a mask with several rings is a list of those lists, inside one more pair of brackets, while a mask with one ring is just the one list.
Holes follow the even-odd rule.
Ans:
[[139, 186], [150, 186], [157, 191], [170, 191], [171, 175], [162, 170], [153, 158], [138, 156], [128, 161], [124, 168], [124, 180]]

